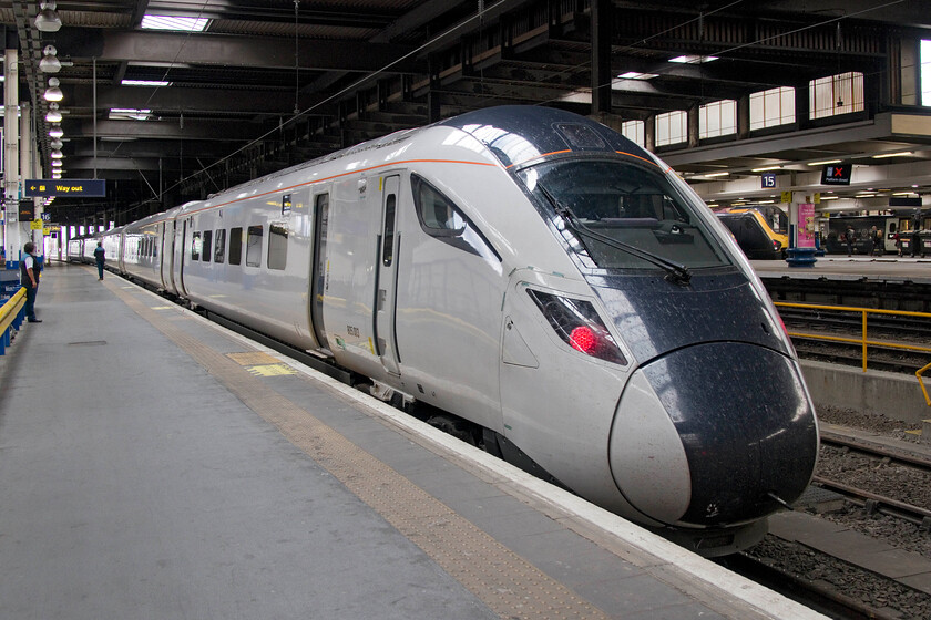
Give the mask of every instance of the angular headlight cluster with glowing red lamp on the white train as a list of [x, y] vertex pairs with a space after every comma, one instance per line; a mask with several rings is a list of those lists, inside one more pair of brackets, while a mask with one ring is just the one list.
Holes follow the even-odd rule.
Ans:
[[533, 289], [526, 291], [540, 308], [559, 337], [570, 347], [615, 364], [625, 365], [627, 359], [590, 302], [550, 294]]

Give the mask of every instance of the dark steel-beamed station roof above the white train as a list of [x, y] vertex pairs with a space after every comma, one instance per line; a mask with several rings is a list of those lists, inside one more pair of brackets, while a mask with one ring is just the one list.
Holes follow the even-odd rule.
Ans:
[[[918, 105], [917, 64], [920, 41], [931, 39], [927, 8], [923, 0], [61, 0], [63, 25], [43, 32], [34, 25], [39, 2], [0, 0], [0, 20], [8, 48], [19, 50], [19, 99], [38, 111], [41, 176], [50, 176], [54, 149], [43, 93], [57, 78], [62, 175], [108, 182], [106, 198], [52, 203], [54, 219], [75, 224], [137, 219], [480, 107], [550, 105], [620, 130], [674, 111], [692, 111], [697, 123], [702, 106], [734, 100], [747, 127], [750, 94], [794, 87], [796, 105], [808, 106], [810, 81], [849, 72], [864, 76], [861, 108], [702, 141], [690, 131], [690, 144], [647, 146], [709, 202], [764, 199], [759, 168], [773, 166], [775, 189], [817, 189], [817, 165], [831, 159], [860, 170], [851, 186], [831, 188], [837, 195], [927, 194], [931, 107]], [[151, 29], [155, 16], [201, 20], [202, 30]], [[40, 70], [48, 45], [58, 73]], [[908, 155], [872, 157], [899, 153]], [[716, 172], [728, 175], [706, 176]]]

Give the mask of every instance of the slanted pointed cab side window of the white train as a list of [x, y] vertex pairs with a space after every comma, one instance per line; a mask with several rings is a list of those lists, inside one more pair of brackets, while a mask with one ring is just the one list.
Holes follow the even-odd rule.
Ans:
[[418, 175], [411, 175], [410, 182], [421, 230], [438, 241], [501, 262], [494, 247], [452, 200]]

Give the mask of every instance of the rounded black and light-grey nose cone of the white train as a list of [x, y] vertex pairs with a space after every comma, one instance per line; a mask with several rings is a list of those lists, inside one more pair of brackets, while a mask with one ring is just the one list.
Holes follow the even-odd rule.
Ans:
[[674, 351], [636, 371], [617, 405], [611, 466], [628, 502], [666, 524], [760, 518], [805, 490], [815, 412], [795, 362], [734, 342]]

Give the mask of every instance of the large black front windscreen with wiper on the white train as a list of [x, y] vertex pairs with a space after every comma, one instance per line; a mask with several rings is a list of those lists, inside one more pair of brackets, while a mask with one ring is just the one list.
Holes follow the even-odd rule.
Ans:
[[658, 170], [616, 161], [562, 161], [518, 173], [553, 209], [571, 247], [602, 269], [730, 265], [704, 208]]

